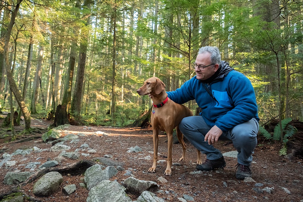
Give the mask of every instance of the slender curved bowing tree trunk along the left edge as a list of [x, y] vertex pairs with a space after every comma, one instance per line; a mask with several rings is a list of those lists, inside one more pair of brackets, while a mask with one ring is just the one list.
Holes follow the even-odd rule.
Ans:
[[15, 96], [16, 101], [18, 102], [18, 105], [22, 111], [22, 114], [24, 116], [24, 121], [25, 121], [25, 129], [29, 129], [31, 127], [31, 116], [29, 114], [28, 108], [25, 105], [24, 99], [22, 98], [21, 94], [19, 93], [19, 89], [14, 81], [12, 71], [10, 70], [9, 67], [9, 61], [8, 61], [8, 46], [9, 46], [9, 38], [11, 36], [12, 28], [15, 23], [15, 18], [18, 13], [18, 9], [20, 6], [20, 3], [22, 0], [18, 0], [16, 5], [15, 5], [15, 10], [12, 12], [12, 17], [11, 21], [7, 27], [7, 34], [5, 36], [5, 44], [3, 47], [3, 55], [4, 55], [4, 61], [5, 61], [5, 68], [6, 68], [6, 73], [7, 73], [7, 78], [9, 82], [9, 86], [11, 87], [11, 90]]

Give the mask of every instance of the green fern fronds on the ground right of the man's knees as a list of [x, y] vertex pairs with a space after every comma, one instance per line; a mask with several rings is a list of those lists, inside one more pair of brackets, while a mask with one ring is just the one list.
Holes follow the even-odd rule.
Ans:
[[[283, 129], [283, 138], [282, 138], [282, 148], [279, 151], [279, 155], [286, 155], [287, 154], [287, 142], [289, 139], [297, 132], [297, 129], [290, 125], [291, 118], [286, 118], [281, 121], [281, 126]], [[267, 130], [265, 130], [264, 127], [259, 127], [259, 132], [261, 135], [265, 137], [267, 140], [275, 140], [280, 141], [281, 140], [281, 130], [280, 130], [280, 124], [277, 124], [274, 128], [274, 132], [271, 134]]]

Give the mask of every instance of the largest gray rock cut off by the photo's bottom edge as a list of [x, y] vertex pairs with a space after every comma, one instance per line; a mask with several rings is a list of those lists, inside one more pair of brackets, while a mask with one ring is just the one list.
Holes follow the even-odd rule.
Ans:
[[86, 202], [113, 202], [123, 201], [132, 202], [125, 193], [125, 187], [117, 181], [103, 180], [97, 186], [93, 187], [86, 199]]

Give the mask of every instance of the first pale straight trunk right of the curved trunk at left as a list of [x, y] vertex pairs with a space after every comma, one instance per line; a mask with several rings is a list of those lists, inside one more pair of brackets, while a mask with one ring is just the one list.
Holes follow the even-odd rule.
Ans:
[[39, 86], [40, 86], [40, 76], [41, 76], [41, 66], [42, 66], [42, 59], [43, 59], [43, 50], [44, 50], [44, 47], [42, 45], [39, 45], [38, 58], [37, 58], [37, 68], [36, 68], [36, 73], [35, 73], [35, 80], [34, 80], [34, 86], [33, 86], [33, 95], [32, 95], [32, 102], [31, 102], [31, 114], [37, 114], [36, 104], [37, 104], [37, 98], [38, 98], [38, 92], [39, 92]]

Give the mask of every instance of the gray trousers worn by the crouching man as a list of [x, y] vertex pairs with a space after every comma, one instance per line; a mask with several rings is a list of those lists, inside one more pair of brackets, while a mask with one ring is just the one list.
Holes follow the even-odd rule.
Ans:
[[[215, 160], [223, 156], [220, 150], [208, 144], [208, 141], [204, 141], [204, 137], [211, 127], [205, 123], [202, 116], [183, 118], [179, 124], [179, 128], [192, 145], [203, 154], [206, 154], [207, 159]], [[219, 140], [231, 140], [238, 151], [238, 163], [248, 166], [252, 162], [251, 154], [254, 154], [257, 145], [258, 131], [259, 123], [255, 118], [252, 118], [223, 133]]]

